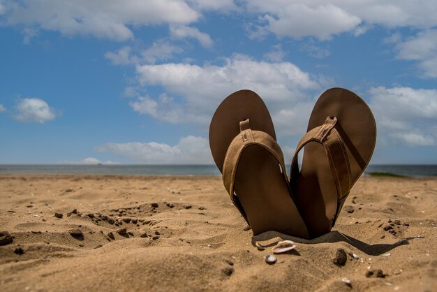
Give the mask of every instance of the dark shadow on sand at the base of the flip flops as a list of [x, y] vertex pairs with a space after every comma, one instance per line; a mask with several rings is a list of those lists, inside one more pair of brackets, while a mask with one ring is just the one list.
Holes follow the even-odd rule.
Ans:
[[302, 244], [320, 244], [320, 243], [334, 243], [334, 242], [346, 242], [351, 246], [360, 249], [360, 251], [368, 254], [369, 256], [379, 256], [380, 254], [385, 254], [392, 249], [395, 249], [401, 245], [409, 244], [410, 240], [419, 239], [422, 237], [415, 238], [404, 238], [398, 240], [392, 244], [387, 243], [377, 243], [377, 244], [367, 244], [356, 238], [352, 238], [349, 235], [339, 233], [339, 231], [331, 231], [322, 235], [318, 238], [312, 240], [304, 240], [302, 238], [295, 238], [290, 235], [285, 235], [276, 231], [267, 231], [259, 235], [252, 237], [252, 245], [255, 247], [255, 243], [259, 243], [262, 247], [273, 247], [279, 240], [292, 240], [297, 243]]

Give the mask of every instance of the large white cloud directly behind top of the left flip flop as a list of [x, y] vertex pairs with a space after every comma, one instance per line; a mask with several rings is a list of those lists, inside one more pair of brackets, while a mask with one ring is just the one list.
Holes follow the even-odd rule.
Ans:
[[134, 110], [166, 122], [207, 125], [223, 98], [244, 88], [260, 94], [275, 117], [280, 110], [307, 106], [311, 97], [305, 91], [319, 88], [316, 78], [294, 64], [242, 55], [225, 59], [223, 66], [169, 63], [137, 66], [136, 71], [141, 86], [163, 87], [166, 94], [179, 98], [146, 96], [131, 103]]

